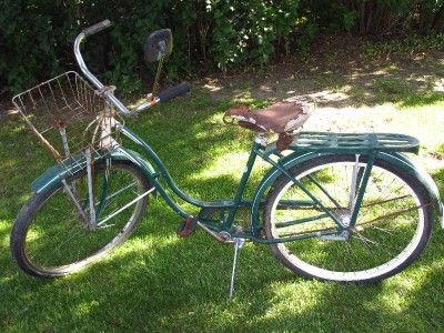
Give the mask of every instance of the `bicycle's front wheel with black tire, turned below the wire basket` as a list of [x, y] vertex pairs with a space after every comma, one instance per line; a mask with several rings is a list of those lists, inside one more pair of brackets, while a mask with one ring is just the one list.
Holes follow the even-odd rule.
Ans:
[[[133, 163], [113, 161], [109, 168], [100, 163], [94, 167], [95, 203], [100, 202], [100, 195], [104, 198], [101, 184], [105, 183], [105, 172], [109, 175], [108, 191], [104, 192], [108, 200], [98, 216], [102, 221], [119, 205], [129, 203], [150, 189], [143, 172]], [[67, 183], [71, 190], [75, 188], [79, 202], [88, 210], [85, 179], [87, 171], [82, 170], [68, 178]], [[130, 179], [132, 182], [128, 183]], [[62, 184], [53, 191], [34, 193], [13, 224], [10, 239], [12, 255], [24, 272], [38, 278], [58, 278], [79, 271], [125, 241], [142, 219], [147, 204], [148, 195], [115, 214], [110, 222], [104, 221], [91, 230], [69, 201]]]

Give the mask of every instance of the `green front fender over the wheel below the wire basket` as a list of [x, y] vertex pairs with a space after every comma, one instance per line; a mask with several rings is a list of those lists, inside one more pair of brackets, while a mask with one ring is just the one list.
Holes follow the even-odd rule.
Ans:
[[[138, 165], [147, 178], [152, 179], [154, 174], [154, 169], [152, 165], [145, 161], [138, 152], [119, 148], [107, 155], [93, 155], [94, 163], [101, 160], [111, 159], [111, 161], [131, 161]], [[56, 164], [44, 171], [39, 178], [37, 178], [32, 184], [32, 192], [40, 193], [44, 191], [52, 191], [60, 185], [60, 182], [65, 180], [71, 174], [81, 171], [87, 168], [87, 160], [84, 154], [79, 153], [73, 155], [71, 159], [63, 161], [62, 164]]]

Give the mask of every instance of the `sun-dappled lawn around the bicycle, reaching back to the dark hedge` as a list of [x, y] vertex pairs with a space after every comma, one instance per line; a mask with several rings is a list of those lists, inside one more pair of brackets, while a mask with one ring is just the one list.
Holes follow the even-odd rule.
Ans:
[[[239, 102], [261, 107], [301, 95], [317, 102], [305, 130], [417, 137], [422, 150], [415, 159], [444, 196], [443, 54], [321, 60], [208, 78], [195, 82], [190, 97], [127, 124], [159, 152], [189, 194], [231, 198], [253, 135], [223, 125], [223, 111]], [[11, 260], [9, 233], [31, 194], [29, 184], [51, 159], [14, 114], [6, 111], [0, 120], [2, 332], [444, 331], [444, 232], [437, 221], [420, 260], [375, 285], [306, 281], [284, 269], [265, 245], [249, 243], [235, 297], [229, 300], [232, 246], [202, 231], [178, 239], [180, 218], [153, 199], [134, 234], [107, 260], [63, 279], [27, 276]], [[260, 164], [248, 193], [263, 172]]]

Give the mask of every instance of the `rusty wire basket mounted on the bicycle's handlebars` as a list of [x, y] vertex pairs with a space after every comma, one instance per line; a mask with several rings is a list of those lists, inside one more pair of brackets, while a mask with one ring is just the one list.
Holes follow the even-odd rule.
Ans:
[[[111, 121], [114, 108], [77, 72], [67, 72], [12, 99], [32, 132], [56, 160], [94, 159], [117, 147]], [[91, 155], [90, 155], [91, 157]]]

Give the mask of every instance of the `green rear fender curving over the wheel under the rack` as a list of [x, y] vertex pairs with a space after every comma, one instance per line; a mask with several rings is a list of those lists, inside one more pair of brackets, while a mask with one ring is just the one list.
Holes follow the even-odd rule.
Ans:
[[[332, 153], [317, 153], [317, 152], [294, 152], [287, 157], [284, 157], [280, 160], [280, 164], [283, 165], [286, 170], [293, 168], [296, 164], [301, 164], [305, 161], [312, 160], [317, 157], [331, 155]], [[433, 200], [434, 208], [436, 213], [440, 215], [440, 221], [442, 228], [444, 228], [444, 209], [443, 203], [440, 198], [440, 191], [430, 176], [430, 174], [417, 163], [410, 160], [405, 154], [402, 153], [387, 153], [387, 152], [379, 152], [377, 158], [384, 160], [385, 162], [395, 165], [396, 168], [403, 170], [404, 172], [415, 176], [427, 190], [430, 196]], [[263, 202], [263, 198], [265, 193], [274, 183], [274, 181], [281, 175], [281, 171], [276, 168], [272, 168], [269, 173], [262, 179], [261, 183], [258, 185], [256, 192], [254, 194], [253, 203], [252, 203], [252, 213], [251, 213], [251, 225], [253, 228], [253, 232], [259, 230], [259, 208], [261, 201]]]

